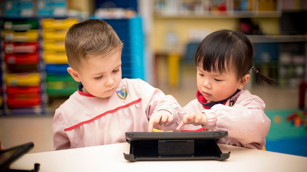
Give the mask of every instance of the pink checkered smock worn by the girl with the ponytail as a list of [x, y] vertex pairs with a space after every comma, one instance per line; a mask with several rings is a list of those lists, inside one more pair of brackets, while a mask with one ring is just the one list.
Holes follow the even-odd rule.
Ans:
[[[211, 109], [205, 109], [194, 99], [184, 110], [187, 114], [205, 113], [207, 124], [203, 128], [208, 131], [228, 131], [228, 137], [220, 139], [218, 143], [262, 149], [271, 125], [270, 119], [264, 114], [264, 108], [262, 99], [248, 90], [241, 90], [228, 99], [225, 105], [216, 104]], [[183, 126], [181, 130], [197, 130], [200, 127], [190, 124]]]

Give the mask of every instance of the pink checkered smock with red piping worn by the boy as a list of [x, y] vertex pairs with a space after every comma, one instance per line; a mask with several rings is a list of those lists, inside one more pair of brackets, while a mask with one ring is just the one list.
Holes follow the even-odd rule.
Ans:
[[98, 98], [78, 90], [60, 105], [52, 122], [53, 150], [126, 142], [125, 132], [147, 131], [151, 114], [161, 108], [174, 115], [162, 130], [176, 129], [185, 111], [173, 96], [141, 79], [122, 79], [122, 86], [126, 97], [114, 92]]

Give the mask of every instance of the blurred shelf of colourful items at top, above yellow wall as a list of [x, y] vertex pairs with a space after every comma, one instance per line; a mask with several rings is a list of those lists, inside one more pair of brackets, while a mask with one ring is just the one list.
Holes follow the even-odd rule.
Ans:
[[155, 0], [155, 17], [280, 17], [281, 2], [281, 0]]

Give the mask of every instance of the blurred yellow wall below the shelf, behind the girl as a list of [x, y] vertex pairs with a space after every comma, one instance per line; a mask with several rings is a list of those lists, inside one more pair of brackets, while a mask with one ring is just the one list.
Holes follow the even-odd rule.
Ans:
[[[279, 34], [278, 18], [253, 18], [252, 21], [258, 23], [263, 32], [267, 35]], [[166, 46], [167, 32], [175, 32], [178, 39], [178, 51], [184, 51], [185, 44], [189, 41], [191, 32], [199, 32], [200, 40], [206, 35], [219, 29], [237, 30], [238, 18], [159, 18], [153, 20], [154, 44], [153, 51], [164, 52]], [[196, 33], [197, 34], [197, 33]]]

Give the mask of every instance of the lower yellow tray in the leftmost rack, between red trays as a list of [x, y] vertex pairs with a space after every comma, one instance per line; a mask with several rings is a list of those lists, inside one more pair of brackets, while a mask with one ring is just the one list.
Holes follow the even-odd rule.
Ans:
[[9, 73], [4, 75], [4, 81], [9, 86], [39, 86], [39, 73]]

